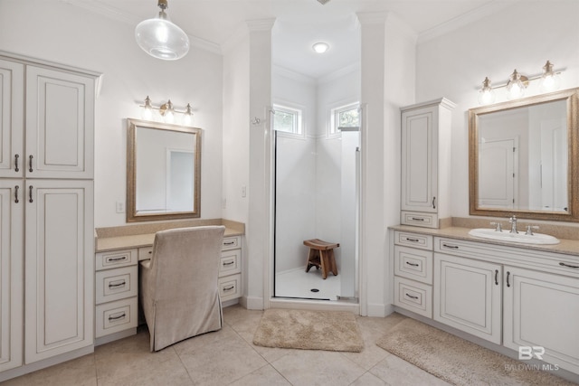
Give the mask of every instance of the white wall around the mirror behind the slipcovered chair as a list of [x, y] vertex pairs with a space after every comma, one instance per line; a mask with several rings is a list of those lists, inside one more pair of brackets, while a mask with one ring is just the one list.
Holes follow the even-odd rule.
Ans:
[[127, 122], [138, 104], [189, 102], [202, 127], [203, 218], [221, 217], [222, 56], [192, 47], [179, 61], [160, 61], [135, 42], [133, 24], [56, 0], [0, 1], [0, 50], [104, 73], [95, 115], [95, 226], [125, 223]]

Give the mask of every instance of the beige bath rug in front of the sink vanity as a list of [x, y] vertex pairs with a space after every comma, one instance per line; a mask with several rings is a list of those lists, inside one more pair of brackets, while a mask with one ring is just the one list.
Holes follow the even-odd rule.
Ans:
[[574, 384], [410, 318], [395, 325], [376, 344], [455, 385]]

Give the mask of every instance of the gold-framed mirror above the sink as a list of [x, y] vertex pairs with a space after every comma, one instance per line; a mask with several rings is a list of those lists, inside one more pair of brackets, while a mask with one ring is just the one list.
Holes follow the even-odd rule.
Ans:
[[579, 221], [579, 89], [469, 110], [470, 214]]

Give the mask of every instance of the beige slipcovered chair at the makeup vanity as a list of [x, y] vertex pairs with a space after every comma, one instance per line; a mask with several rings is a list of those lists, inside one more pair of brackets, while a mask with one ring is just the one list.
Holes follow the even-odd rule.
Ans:
[[158, 231], [150, 260], [141, 261], [141, 304], [158, 351], [223, 326], [217, 277], [223, 226]]

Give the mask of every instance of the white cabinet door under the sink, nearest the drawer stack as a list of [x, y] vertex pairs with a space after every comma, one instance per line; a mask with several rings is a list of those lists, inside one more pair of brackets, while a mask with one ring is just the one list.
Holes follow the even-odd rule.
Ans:
[[434, 254], [434, 320], [500, 344], [498, 264]]

